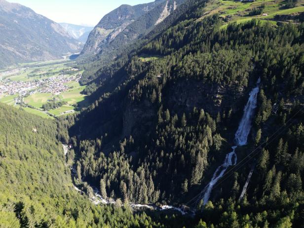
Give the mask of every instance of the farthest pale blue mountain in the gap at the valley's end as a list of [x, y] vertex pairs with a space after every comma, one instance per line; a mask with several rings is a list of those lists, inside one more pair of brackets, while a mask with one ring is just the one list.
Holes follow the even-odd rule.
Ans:
[[94, 27], [59, 23], [73, 38], [85, 43]]

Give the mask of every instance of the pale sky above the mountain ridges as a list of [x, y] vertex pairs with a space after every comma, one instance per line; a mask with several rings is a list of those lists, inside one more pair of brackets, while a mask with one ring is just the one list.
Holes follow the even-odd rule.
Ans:
[[121, 4], [136, 5], [154, 0], [8, 0], [33, 9], [55, 22], [95, 26]]

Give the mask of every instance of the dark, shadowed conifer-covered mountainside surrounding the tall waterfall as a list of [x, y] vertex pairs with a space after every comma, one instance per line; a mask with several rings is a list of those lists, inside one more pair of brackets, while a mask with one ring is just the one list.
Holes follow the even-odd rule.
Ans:
[[[81, 177], [105, 196], [201, 208], [207, 202], [197, 195], [234, 145], [260, 77], [248, 145], [236, 150], [238, 160], [245, 160], [228, 169], [202, 218], [216, 227], [300, 227], [303, 24], [253, 20], [224, 26], [218, 14], [202, 17], [205, 2], [198, 2], [132, 58], [100, 70], [92, 94], [99, 98], [70, 129], [80, 135], [75, 146]], [[238, 202], [251, 167], [245, 199]]]

